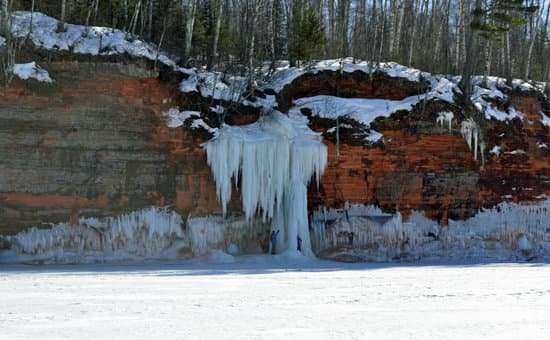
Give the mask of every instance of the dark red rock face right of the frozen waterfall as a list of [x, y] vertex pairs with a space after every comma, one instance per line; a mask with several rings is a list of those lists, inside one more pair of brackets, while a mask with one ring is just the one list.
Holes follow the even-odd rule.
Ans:
[[[391, 99], [406, 97], [405, 91]], [[397, 96], [397, 97], [396, 97]], [[358, 145], [351, 134], [341, 133], [339, 156], [334, 136], [325, 141], [329, 163], [320, 189], [310, 187], [310, 209], [342, 207], [350, 203], [377, 204], [388, 211], [424, 211], [446, 224], [449, 218], [465, 219], [481, 207], [502, 201], [536, 201], [550, 195], [549, 129], [541, 123], [542, 98], [511, 94], [510, 105], [525, 114], [524, 120], [484, 122], [486, 160], [474, 160], [460, 126], [452, 131], [436, 125], [437, 113], [461, 110], [433, 101], [412, 113], [395, 114], [372, 125], [384, 143]], [[334, 123], [312, 118], [324, 132]], [[488, 152], [501, 147], [500, 155]], [[550, 146], [550, 145], [549, 145]]]

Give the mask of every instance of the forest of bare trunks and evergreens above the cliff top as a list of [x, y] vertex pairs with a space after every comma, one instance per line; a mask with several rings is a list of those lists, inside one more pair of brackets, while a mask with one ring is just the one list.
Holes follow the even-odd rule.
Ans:
[[210, 69], [352, 56], [550, 79], [548, 0], [2, 0], [15, 10], [123, 29]]

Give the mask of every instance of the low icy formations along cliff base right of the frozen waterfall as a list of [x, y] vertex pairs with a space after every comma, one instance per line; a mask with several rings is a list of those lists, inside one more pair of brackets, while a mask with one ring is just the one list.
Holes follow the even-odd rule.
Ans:
[[447, 226], [418, 212], [404, 222], [399, 213], [352, 205], [315, 211], [311, 226], [315, 253], [336, 260], [550, 259], [550, 200], [501, 203]]

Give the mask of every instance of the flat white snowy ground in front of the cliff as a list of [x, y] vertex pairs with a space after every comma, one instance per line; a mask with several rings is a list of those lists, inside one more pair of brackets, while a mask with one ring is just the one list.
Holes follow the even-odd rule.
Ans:
[[550, 337], [550, 264], [275, 261], [0, 267], [0, 337]]

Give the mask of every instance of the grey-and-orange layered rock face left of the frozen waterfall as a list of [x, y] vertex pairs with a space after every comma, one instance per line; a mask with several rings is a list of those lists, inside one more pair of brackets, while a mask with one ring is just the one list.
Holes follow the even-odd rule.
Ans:
[[54, 63], [0, 89], [0, 233], [150, 205], [218, 209], [200, 148], [165, 127], [177, 84], [120, 64]]

